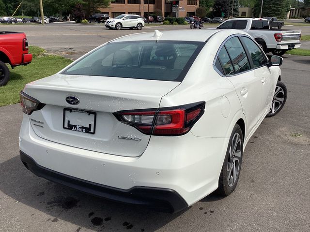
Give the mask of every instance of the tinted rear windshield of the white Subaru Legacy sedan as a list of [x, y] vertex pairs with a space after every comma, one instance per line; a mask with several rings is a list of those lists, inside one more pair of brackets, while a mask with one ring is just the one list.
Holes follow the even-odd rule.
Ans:
[[204, 42], [107, 43], [62, 74], [182, 81]]

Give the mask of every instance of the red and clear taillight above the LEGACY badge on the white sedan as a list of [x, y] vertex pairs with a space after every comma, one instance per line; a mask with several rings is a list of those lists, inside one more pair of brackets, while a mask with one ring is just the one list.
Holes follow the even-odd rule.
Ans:
[[141, 111], [116, 112], [114, 116], [145, 134], [186, 134], [204, 113], [205, 102]]

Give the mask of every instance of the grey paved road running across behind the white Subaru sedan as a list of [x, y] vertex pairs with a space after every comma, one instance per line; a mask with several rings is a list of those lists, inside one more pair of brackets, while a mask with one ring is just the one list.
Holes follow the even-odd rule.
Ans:
[[[189, 26], [153, 26], [145, 25], [141, 31], [123, 29], [109, 30], [103, 24], [77, 25], [72, 23], [47, 24], [45, 27], [34, 25], [0, 26], [0, 30], [24, 31], [31, 45], [45, 48], [48, 52], [60, 54], [67, 58], [77, 59], [86, 52], [112, 39], [131, 33], [158, 30], [188, 29]], [[204, 24], [205, 29], [214, 28], [215, 24]], [[300, 29], [303, 35], [310, 35], [309, 27], [283, 27], [283, 29]], [[189, 35], [190, 36], [190, 35]], [[302, 48], [310, 50], [309, 41], [302, 42]]]

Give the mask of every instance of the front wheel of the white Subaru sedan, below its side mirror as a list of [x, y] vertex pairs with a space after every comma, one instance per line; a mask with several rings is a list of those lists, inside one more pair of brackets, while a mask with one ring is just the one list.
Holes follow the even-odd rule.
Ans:
[[287, 98], [287, 89], [283, 82], [278, 81], [275, 89], [274, 97], [271, 103], [271, 108], [266, 117], [277, 115], [285, 105]]

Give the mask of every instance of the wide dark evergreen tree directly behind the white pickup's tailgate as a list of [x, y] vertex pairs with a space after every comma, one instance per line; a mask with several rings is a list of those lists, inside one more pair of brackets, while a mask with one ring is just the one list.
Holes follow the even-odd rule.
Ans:
[[[254, 5], [254, 16], [259, 17], [262, 0], [256, 0]], [[262, 17], [285, 18], [290, 10], [290, 0], [263, 1]]]

